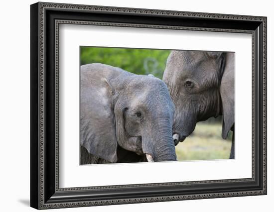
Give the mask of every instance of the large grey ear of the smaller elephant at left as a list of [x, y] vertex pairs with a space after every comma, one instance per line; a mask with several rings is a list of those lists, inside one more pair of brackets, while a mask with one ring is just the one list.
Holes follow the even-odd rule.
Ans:
[[81, 66], [80, 143], [90, 154], [115, 163], [118, 144], [113, 90], [103, 73], [93, 64]]

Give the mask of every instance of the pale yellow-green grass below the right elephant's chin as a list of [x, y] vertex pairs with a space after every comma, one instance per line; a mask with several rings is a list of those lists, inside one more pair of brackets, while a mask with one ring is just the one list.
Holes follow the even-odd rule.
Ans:
[[177, 160], [229, 159], [232, 136], [224, 140], [221, 134], [221, 123], [197, 123], [193, 133], [176, 146]]

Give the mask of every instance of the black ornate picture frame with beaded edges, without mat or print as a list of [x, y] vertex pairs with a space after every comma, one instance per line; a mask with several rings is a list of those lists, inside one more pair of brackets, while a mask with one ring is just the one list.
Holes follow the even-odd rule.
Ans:
[[[267, 194], [267, 17], [38, 2], [30, 6], [30, 206], [103, 206]], [[60, 23], [252, 35], [252, 178], [59, 188]]]

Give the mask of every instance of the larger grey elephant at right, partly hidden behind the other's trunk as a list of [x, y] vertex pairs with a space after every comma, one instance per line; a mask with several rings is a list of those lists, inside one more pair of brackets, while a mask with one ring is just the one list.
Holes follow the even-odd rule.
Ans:
[[234, 131], [234, 53], [171, 51], [163, 81], [175, 105], [175, 145], [193, 132], [198, 121], [211, 116], [223, 115], [224, 139]]

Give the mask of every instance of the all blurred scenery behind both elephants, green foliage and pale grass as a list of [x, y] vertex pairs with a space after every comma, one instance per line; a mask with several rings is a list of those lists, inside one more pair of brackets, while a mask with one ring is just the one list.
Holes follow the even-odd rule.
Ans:
[[[162, 79], [170, 50], [80, 47], [80, 64], [103, 63], [134, 74]], [[224, 140], [222, 117], [198, 122], [193, 133], [176, 146], [177, 160], [228, 159], [232, 134]]]

